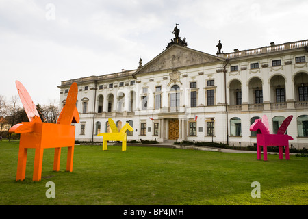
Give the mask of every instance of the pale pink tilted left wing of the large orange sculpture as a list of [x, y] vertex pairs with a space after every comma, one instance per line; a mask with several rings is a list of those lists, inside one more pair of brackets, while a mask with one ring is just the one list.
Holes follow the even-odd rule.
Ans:
[[29, 118], [30, 122], [42, 123], [40, 119], [40, 114], [38, 114], [38, 110], [36, 110], [36, 105], [31, 99], [31, 96], [23, 86], [23, 84], [19, 81], [15, 81], [16, 88], [18, 90], [18, 95], [21, 98], [21, 103], [23, 104], [23, 108]]

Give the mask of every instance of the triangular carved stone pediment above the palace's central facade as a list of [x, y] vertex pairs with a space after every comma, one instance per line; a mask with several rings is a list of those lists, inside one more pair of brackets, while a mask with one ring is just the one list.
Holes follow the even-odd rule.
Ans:
[[173, 45], [137, 70], [134, 75], [218, 61], [224, 61], [224, 59], [187, 47]]

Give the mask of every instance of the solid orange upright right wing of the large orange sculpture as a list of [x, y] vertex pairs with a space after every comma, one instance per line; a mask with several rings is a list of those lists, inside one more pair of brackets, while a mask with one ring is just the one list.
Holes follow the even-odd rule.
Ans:
[[[62, 109], [62, 112], [60, 113], [59, 119], [57, 123], [63, 124], [63, 125], [70, 125], [73, 123], [75, 114], [77, 114], [76, 109], [76, 100], [78, 95], [78, 86], [77, 83], [72, 83], [70, 86], [70, 90], [68, 91], [68, 95], [66, 98], [66, 103]], [[78, 122], [79, 122], [79, 115], [78, 115]]]

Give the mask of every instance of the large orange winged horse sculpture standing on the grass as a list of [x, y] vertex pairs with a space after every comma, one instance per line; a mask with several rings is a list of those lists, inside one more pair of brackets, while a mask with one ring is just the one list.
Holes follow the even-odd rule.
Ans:
[[16, 81], [16, 88], [29, 118], [29, 122], [18, 123], [9, 130], [10, 133], [21, 134], [16, 181], [25, 179], [27, 149], [35, 149], [33, 181], [41, 179], [44, 149], [55, 148], [53, 170], [59, 171], [61, 148], [68, 147], [66, 171], [72, 172], [75, 126], [72, 126], [71, 123], [79, 123], [79, 114], [76, 108], [77, 83], [70, 86], [66, 104], [57, 119], [57, 124], [42, 123], [36, 105], [25, 87], [21, 82]]

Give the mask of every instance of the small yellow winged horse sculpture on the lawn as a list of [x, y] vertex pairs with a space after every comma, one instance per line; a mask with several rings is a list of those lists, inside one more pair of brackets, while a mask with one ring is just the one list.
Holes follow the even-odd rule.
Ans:
[[108, 118], [108, 123], [110, 125], [110, 129], [112, 133], [99, 133], [97, 136], [103, 136], [103, 151], [107, 150], [108, 141], [122, 141], [122, 151], [126, 151], [126, 131], [133, 131], [133, 127], [131, 127], [128, 123], [126, 123], [120, 131], [116, 127], [114, 120]]

